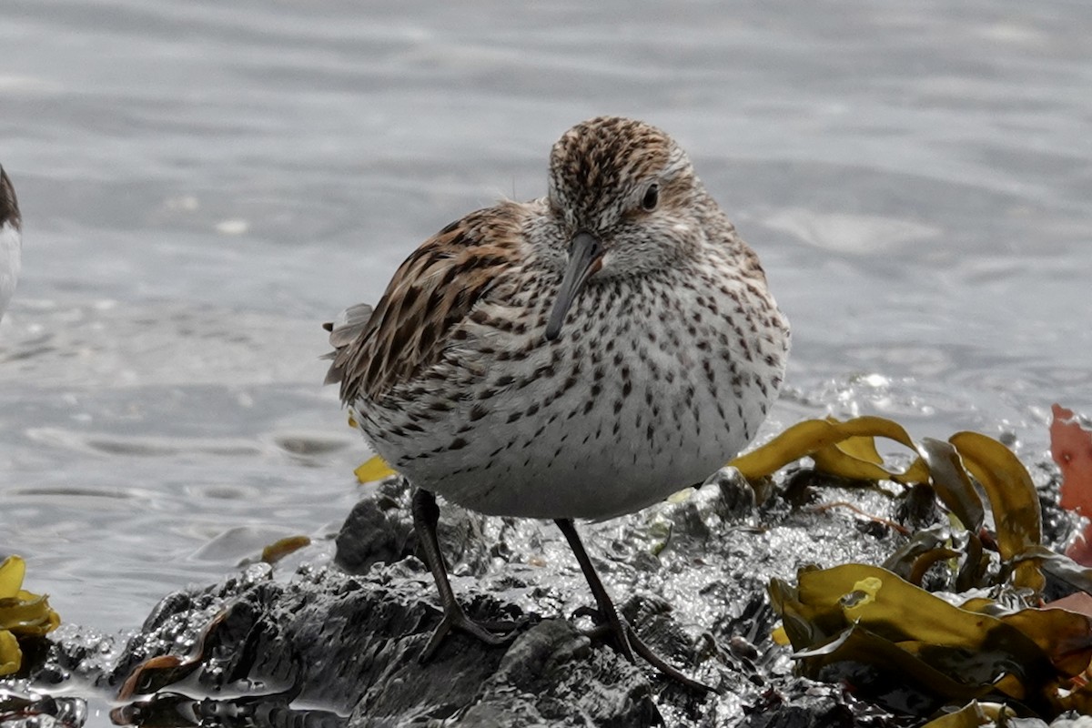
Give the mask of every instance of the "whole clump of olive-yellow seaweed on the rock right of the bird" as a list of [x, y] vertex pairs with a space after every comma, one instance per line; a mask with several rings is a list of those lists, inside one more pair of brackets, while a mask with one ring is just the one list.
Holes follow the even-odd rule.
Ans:
[[[910, 465], [889, 467], [876, 438], [909, 449]], [[807, 566], [795, 584], [770, 582], [774, 637], [803, 676], [850, 682], [931, 718], [929, 728], [1092, 712], [1092, 617], [1042, 604], [1044, 573], [1092, 593], [1092, 570], [1043, 545], [1038, 494], [1008, 447], [976, 432], [915, 442], [880, 417], [807, 420], [732, 465], [756, 480], [805, 456], [851, 482], [931, 489], [948, 518], [882, 565]], [[943, 593], [923, 587], [938, 570]]]

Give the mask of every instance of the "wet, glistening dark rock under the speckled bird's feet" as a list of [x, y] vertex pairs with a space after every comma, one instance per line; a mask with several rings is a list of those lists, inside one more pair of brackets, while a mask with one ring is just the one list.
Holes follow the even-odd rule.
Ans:
[[[788, 485], [756, 508], [724, 472], [675, 502], [578, 526], [626, 619], [716, 689], [708, 695], [628, 663], [585, 636], [590, 621], [568, 619], [592, 598], [551, 524], [442, 503], [441, 548], [460, 602], [474, 619], [519, 629], [503, 647], [456, 633], [420, 663], [440, 612], [413, 556], [408, 488], [389, 480], [366, 489], [332, 542], [173, 594], [123, 645], [62, 628], [32, 660], [23, 692], [0, 700], [38, 701], [45, 717], [51, 690], [87, 681], [100, 696], [124, 695], [114, 721], [147, 726], [919, 724], [794, 677], [788, 651], [771, 640], [765, 593], [771, 576], [792, 580], [806, 563], [882, 562], [904, 537], [838, 503], [890, 518], [904, 502], [805, 476]], [[56, 725], [82, 725], [79, 705], [52, 705]]]

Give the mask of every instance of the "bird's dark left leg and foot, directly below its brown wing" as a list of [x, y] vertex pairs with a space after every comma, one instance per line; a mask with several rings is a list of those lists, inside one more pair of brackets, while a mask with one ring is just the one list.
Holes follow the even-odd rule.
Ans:
[[[417, 542], [420, 546], [420, 553], [432, 572], [436, 581], [436, 588], [440, 593], [440, 601], [443, 602], [443, 618], [429, 637], [420, 654], [420, 661], [425, 663], [432, 657], [436, 649], [443, 642], [443, 639], [452, 630], [465, 632], [477, 637], [487, 645], [502, 645], [515, 636], [512, 622], [475, 622], [455, 600], [455, 593], [451, 589], [451, 582], [448, 581], [448, 568], [443, 563], [443, 556], [440, 553], [440, 541], [436, 536], [436, 524], [440, 518], [440, 509], [436, 504], [436, 496], [427, 490], [417, 488], [413, 494], [413, 526], [417, 532]], [[490, 630], [497, 630], [497, 634]]]

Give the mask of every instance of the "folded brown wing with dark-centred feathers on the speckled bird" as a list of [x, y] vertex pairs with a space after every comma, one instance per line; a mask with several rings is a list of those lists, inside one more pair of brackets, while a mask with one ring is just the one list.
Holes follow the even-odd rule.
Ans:
[[346, 312], [345, 325], [331, 326], [327, 382], [341, 382], [343, 402], [379, 398], [439, 361], [452, 331], [512, 264], [522, 210], [506, 202], [452, 223], [399, 266], [367, 323], [351, 331]]

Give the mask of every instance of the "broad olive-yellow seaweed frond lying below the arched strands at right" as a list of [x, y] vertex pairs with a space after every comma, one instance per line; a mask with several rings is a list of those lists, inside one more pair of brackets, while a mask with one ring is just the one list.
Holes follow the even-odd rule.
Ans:
[[1057, 702], [1059, 688], [1092, 660], [1089, 617], [1035, 608], [994, 617], [956, 607], [879, 566], [802, 570], [796, 587], [774, 580], [770, 596], [809, 677], [850, 660], [897, 671], [948, 700], [993, 694]]

